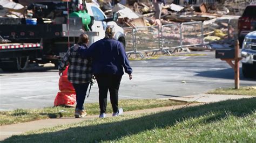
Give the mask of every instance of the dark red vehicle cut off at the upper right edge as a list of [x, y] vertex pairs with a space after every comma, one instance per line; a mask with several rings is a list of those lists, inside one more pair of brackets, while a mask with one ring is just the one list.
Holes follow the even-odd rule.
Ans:
[[246, 6], [244, 13], [238, 19], [238, 34], [239, 43], [242, 46], [242, 41], [245, 35], [256, 30], [256, 4]]

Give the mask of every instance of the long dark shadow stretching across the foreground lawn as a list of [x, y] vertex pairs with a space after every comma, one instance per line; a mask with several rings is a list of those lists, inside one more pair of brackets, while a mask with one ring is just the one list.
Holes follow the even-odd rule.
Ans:
[[[158, 112], [152, 115], [142, 116], [133, 119], [111, 122], [105, 120], [105, 124], [83, 125], [87, 120], [80, 123], [79, 127], [66, 128], [65, 130], [52, 131], [48, 133], [37, 133], [31, 135], [14, 136], [5, 141], [19, 142], [98, 142], [113, 141], [116, 139], [128, 137], [131, 134], [138, 134], [143, 131], [149, 131], [154, 128], [165, 128], [174, 126], [184, 120], [204, 116], [196, 124], [212, 123], [222, 120], [228, 115], [245, 117], [253, 114], [256, 109], [256, 97], [249, 99], [237, 99], [223, 101], [218, 103], [193, 106], [184, 109], [177, 109], [164, 112]], [[102, 119], [90, 121], [90, 123], [102, 122]], [[108, 123], [106, 123], [108, 122]], [[51, 131], [51, 130], [49, 130]], [[83, 136], [83, 138], [80, 138]]]

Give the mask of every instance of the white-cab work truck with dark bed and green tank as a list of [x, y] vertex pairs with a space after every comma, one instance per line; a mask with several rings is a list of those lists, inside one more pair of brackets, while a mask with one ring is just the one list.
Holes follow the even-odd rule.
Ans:
[[28, 7], [34, 11], [30, 19], [0, 18], [0, 35], [11, 41], [0, 44], [0, 68], [17, 71], [25, 69], [28, 63], [48, 62], [58, 66], [60, 58], [69, 46], [77, 42], [80, 33], [88, 34], [92, 44], [104, 38], [107, 25], [114, 25], [114, 38], [125, 46], [124, 30], [113, 22], [113, 18], [107, 18], [96, 4], [83, 0], [82, 5], [79, 2], [76, 0], [68, 3], [69, 19], [66, 2], [32, 4]]

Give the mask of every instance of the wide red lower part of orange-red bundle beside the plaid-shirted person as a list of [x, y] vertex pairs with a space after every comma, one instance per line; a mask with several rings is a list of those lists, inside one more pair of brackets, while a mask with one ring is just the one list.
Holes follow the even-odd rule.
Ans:
[[60, 91], [55, 97], [54, 106], [71, 106], [75, 107], [76, 92], [75, 91]]

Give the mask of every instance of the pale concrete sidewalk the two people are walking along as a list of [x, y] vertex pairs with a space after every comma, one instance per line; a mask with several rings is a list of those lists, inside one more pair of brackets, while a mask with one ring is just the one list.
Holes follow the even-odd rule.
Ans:
[[[224, 101], [227, 99], [239, 99], [239, 98], [251, 98], [254, 96], [239, 96], [239, 95], [206, 95], [199, 94], [193, 96], [186, 97], [172, 97], [168, 98], [174, 101], [187, 101], [187, 102], [202, 102], [197, 104], [190, 104], [189, 106], [201, 105], [210, 102], [218, 102]], [[136, 111], [127, 111], [124, 112], [124, 115], [138, 115], [141, 113], [154, 113], [166, 110], [173, 110], [183, 108], [185, 105], [176, 105], [176, 106], [167, 106], [162, 108], [154, 108], [154, 109], [144, 109], [144, 110], [136, 110]], [[108, 113], [106, 117], [112, 117], [111, 113]], [[0, 126], [0, 141], [4, 140], [11, 135], [21, 134], [27, 131], [38, 130], [41, 128], [49, 128], [57, 125], [65, 125], [65, 124], [73, 124], [78, 123], [83, 120], [95, 119], [98, 118], [98, 115], [86, 116], [85, 118], [55, 118], [55, 119], [44, 119], [44, 120], [36, 120], [30, 121], [26, 123], [12, 124], [12, 125], [4, 125]]]

